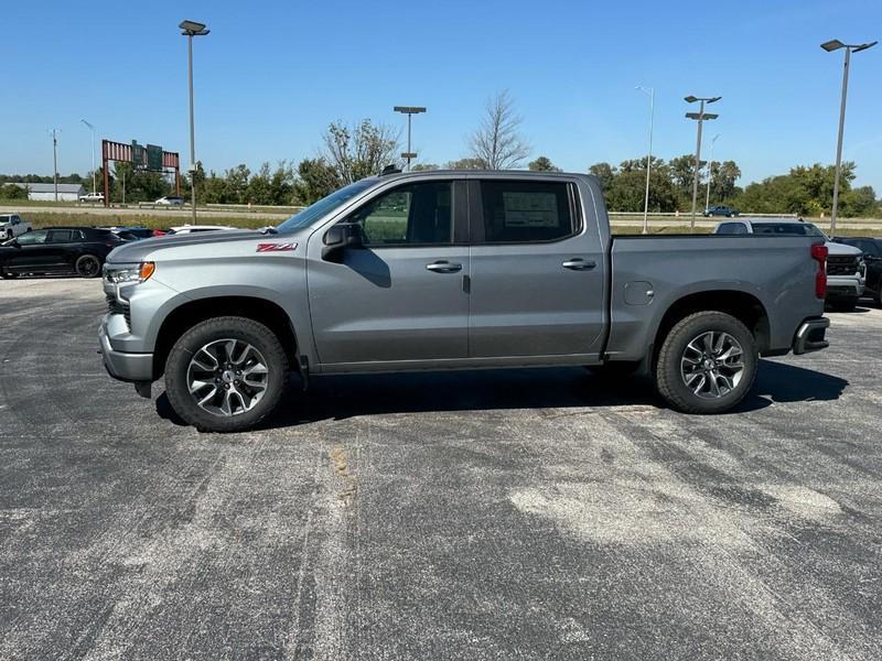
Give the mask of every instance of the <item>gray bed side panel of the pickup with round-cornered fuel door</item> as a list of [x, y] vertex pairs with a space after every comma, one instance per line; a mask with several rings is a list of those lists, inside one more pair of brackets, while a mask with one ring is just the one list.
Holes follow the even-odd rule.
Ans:
[[[798, 325], [824, 312], [815, 296], [811, 237], [616, 237], [612, 246], [610, 358], [638, 360], [677, 301], [708, 291], [756, 297], [768, 315], [770, 349], [788, 348]], [[647, 282], [645, 305], [625, 301], [625, 285]]]

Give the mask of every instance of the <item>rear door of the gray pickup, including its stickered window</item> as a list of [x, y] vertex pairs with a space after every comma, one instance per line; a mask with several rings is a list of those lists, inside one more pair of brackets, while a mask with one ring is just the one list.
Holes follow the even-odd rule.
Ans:
[[576, 183], [474, 180], [470, 212], [470, 357], [598, 355], [605, 256]]

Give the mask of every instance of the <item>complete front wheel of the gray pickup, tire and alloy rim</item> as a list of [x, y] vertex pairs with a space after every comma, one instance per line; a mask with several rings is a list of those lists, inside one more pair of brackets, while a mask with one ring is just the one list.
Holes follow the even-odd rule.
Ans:
[[284, 389], [288, 360], [279, 338], [254, 319], [225, 316], [193, 326], [165, 362], [165, 392], [175, 412], [200, 431], [254, 427]]

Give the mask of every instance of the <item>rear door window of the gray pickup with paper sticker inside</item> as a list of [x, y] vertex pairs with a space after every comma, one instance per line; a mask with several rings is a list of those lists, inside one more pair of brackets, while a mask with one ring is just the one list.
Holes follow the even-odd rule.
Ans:
[[486, 243], [553, 241], [577, 229], [566, 182], [483, 181], [481, 198]]

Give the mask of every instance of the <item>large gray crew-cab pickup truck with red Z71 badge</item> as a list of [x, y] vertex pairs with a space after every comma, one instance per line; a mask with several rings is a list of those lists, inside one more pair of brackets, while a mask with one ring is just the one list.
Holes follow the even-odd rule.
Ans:
[[366, 178], [276, 229], [162, 237], [107, 259], [111, 376], [205, 431], [254, 427], [286, 376], [585, 366], [650, 375], [688, 413], [760, 356], [827, 346], [822, 240], [613, 237], [583, 174]]

